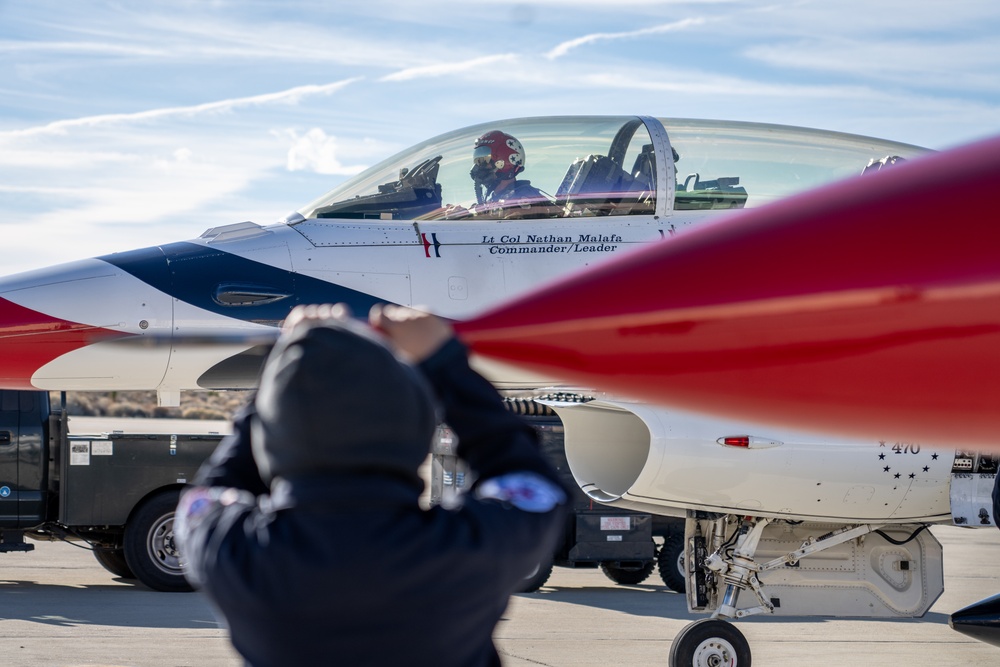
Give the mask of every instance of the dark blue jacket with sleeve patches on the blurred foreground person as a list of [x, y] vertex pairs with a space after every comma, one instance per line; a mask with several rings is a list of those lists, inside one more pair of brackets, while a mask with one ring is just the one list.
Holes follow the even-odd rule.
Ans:
[[[461, 508], [422, 510], [419, 483], [379, 470], [277, 479], [268, 492], [250, 451], [252, 406], [182, 496], [188, 577], [248, 664], [499, 664], [493, 629], [508, 597], [551, 557], [565, 502], [549, 500], [564, 490], [534, 431], [468, 367], [457, 341], [421, 369], [479, 478]], [[317, 418], [335, 428], [330, 408]], [[372, 419], [391, 411], [373, 406]], [[477, 498], [491, 479], [534, 494], [527, 505], [547, 511]]]

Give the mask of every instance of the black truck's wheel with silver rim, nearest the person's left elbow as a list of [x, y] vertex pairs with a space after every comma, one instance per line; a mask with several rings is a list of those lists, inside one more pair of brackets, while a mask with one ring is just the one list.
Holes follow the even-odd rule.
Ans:
[[125, 526], [125, 561], [139, 581], [156, 591], [190, 591], [174, 544], [174, 511], [179, 491], [147, 500]]

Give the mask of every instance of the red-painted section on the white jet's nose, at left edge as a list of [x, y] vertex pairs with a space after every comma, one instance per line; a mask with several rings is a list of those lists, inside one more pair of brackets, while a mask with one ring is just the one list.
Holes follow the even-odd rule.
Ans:
[[85, 345], [120, 335], [0, 297], [0, 388], [37, 389], [31, 378], [45, 364]]

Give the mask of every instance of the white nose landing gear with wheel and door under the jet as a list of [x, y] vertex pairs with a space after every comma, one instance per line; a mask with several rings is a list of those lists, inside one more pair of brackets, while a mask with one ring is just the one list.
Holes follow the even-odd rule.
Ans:
[[[712, 616], [677, 635], [670, 667], [749, 665], [749, 643], [729, 619], [781, 611], [922, 616], [944, 589], [941, 545], [925, 528], [689, 516], [682, 561], [688, 609]], [[799, 566], [802, 559], [827, 550], [835, 550], [827, 558], [842, 563], [835, 573], [823, 566]]]

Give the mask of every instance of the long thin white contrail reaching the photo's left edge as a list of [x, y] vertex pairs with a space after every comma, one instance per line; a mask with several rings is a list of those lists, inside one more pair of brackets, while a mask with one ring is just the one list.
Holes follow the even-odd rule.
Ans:
[[171, 116], [197, 116], [199, 114], [206, 113], [223, 113], [240, 107], [263, 106], [266, 104], [296, 104], [305, 97], [335, 93], [358, 80], [359, 78], [355, 77], [322, 85], [296, 86], [295, 88], [289, 88], [275, 93], [251, 95], [249, 97], [237, 97], [191, 106], [166, 107], [162, 109], [150, 109], [148, 111], [137, 111], [134, 113], [101, 114], [97, 116], [87, 116], [84, 118], [57, 120], [36, 127], [0, 132], [0, 140], [18, 139], [39, 135], [64, 134], [67, 130], [79, 127], [114, 125], [119, 123], [167, 118]]

